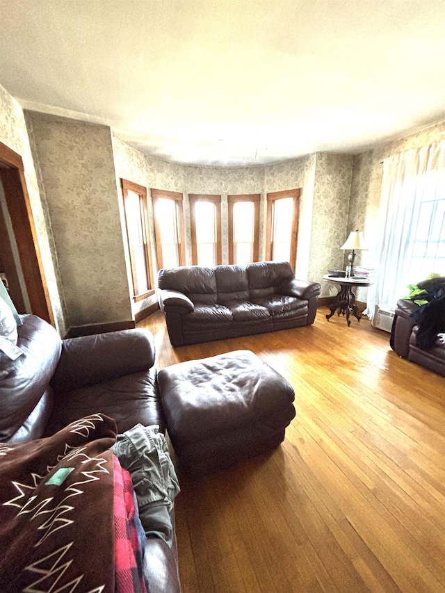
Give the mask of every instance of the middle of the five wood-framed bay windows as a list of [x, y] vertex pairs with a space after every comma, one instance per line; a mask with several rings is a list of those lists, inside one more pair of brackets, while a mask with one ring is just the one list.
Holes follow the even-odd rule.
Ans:
[[221, 257], [221, 196], [189, 194], [192, 263], [218, 266]]

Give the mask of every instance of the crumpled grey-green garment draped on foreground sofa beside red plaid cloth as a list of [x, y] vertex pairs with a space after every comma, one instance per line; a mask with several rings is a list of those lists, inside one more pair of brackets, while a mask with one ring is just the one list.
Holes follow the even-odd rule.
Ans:
[[159, 426], [137, 424], [118, 434], [111, 450], [131, 474], [145, 534], [160, 537], [171, 547], [174, 531], [170, 512], [180, 489], [168, 445], [159, 432]]

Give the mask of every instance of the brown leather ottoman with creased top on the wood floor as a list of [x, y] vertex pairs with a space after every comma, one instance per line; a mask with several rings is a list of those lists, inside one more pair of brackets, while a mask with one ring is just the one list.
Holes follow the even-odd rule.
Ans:
[[274, 448], [295, 416], [289, 382], [250, 350], [163, 368], [158, 381], [170, 440], [193, 476]]

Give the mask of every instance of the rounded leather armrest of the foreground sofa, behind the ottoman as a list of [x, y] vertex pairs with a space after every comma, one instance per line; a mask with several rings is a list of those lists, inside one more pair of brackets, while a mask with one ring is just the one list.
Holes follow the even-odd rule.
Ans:
[[58, 391], [148, 371], [156, 350], [148, 330], [122, 330], [63, 340], [60, 361], [51, 380]]

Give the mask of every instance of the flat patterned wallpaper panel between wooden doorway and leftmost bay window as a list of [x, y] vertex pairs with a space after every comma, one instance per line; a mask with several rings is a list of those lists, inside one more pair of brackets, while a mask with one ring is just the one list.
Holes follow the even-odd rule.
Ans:
[[26, 115], [47, 196], [67, 325], [130, 320], [110, 129]]

